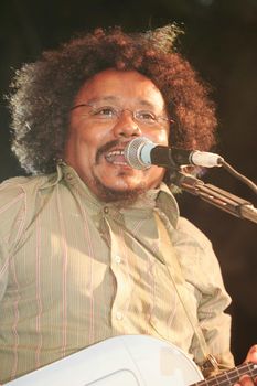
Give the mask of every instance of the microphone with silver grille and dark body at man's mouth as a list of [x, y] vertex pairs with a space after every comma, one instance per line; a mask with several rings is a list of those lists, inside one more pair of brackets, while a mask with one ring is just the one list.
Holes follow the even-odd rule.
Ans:
[[215, 153], [170, 148], [153, 143], [146, 137], [131, 140], [125, 148], [124, 156], [133, 169], [148, 169], [154, 164], [167, 169], [179, 169], [180, 165], [203, 168], [222, 167], [224, 159]]

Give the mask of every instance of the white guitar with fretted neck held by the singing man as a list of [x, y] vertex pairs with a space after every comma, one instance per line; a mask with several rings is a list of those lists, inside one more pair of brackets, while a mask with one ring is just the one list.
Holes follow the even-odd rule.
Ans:
[[4, 386], [228, 386], [244, 374], [257, 375], [256, 364], [244, 364], [208, 379], [176, 346], [147, 335], [110, 337], [41, 367]]

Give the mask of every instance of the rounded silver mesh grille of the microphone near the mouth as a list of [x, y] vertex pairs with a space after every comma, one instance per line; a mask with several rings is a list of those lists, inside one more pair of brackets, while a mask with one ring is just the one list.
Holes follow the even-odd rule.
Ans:
[[150, 165], [144, 163], [141, 159], [141, 150], [147, 143], [151, 143], [148, 138], [137, 137], [126, 146], [124, 156], [131, 168], [140, 170], [150, 168]]

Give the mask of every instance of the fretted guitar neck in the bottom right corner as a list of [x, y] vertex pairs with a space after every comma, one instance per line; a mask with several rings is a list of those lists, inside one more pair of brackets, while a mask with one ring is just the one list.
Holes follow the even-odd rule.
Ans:
[[192, 386], [231, 386], [234, 385], [236, 382], [238, 382], [238, 378], [243, 375], [248, 374], [251, 377], [257, 376], [257, 364], [254, 363], [245, 363], [240, 366], [234, 367], [229, 369], [228, 372], [221, 373], [216, 376], [211, 377], [210, 379], [204, 379], [201, 382], [197, 382], [196, 384]]

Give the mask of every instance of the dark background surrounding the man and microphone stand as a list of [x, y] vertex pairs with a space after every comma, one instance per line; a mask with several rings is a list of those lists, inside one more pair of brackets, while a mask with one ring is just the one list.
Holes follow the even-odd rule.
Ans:
[[[56, 47], [75, 32], [122, 25], [141, 31], [175, 21], [185, 34], [180, 51], [212, 85], [217, 105], [217, 152], [257, 181], [257, 0], [1, 0], [0, 3], [0, 181], [21, 174], [10, 151], [10, 117], [3, 95], [13, 72]], [[205, 182], [250, 201], [257, 199], [222, 169]], [[233, 303], [232, 347], [240, 362], [257, 343], [257, 224], [236, 218], [184, 193], [181, 213], [212, 239]]]

